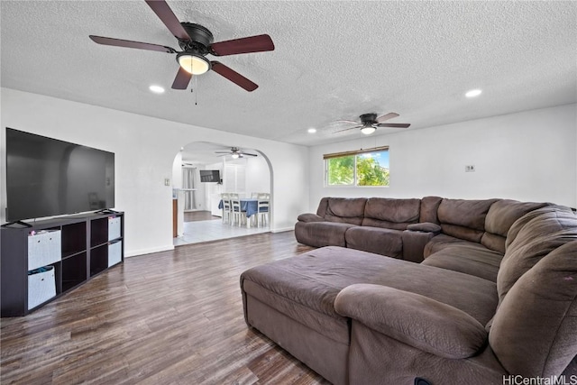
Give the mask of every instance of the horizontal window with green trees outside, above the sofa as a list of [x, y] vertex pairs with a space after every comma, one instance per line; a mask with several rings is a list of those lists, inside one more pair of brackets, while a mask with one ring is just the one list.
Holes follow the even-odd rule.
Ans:
[[327, 186], [389, 186], [389, 147], [325, 154]]

